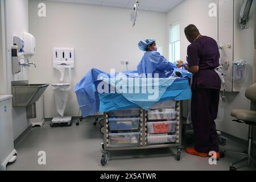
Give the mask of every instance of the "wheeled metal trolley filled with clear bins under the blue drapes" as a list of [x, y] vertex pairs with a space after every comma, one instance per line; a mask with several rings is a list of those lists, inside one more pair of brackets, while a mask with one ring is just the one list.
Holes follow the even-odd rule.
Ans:
[[104, 113], [102, 166], [108, 161], [108, 153], [117, 150], [177, 147], [177, 160], [180, 160], [182, 101], [172, 103], [175, 108], [172, 105], [170, 111], [154, 108], [153, 111], [129, 109]]

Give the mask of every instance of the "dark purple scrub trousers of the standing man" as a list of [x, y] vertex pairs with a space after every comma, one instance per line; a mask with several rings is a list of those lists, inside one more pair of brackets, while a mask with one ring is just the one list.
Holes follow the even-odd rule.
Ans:
[[219, 152], [218, 134], [214, 120], [217, 118], [220, 90], [195, 89], [192, 91], [191, 119], [195, 135], [195, 150]]

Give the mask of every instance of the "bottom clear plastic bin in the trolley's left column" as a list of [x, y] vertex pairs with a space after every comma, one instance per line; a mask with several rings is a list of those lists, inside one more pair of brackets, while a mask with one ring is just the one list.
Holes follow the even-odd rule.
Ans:
[[139, 144], [139, 132], [138, 133], [109, 133], [109, 144], [112, 145], [138, 145]]

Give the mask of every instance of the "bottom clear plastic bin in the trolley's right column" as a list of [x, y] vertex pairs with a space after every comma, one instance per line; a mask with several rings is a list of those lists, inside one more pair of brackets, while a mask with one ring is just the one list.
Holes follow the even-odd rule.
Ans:
[[176, 142], [176, 136], [177, 135], [150, 135], [147, 137], [147, 143], [175, 143]]

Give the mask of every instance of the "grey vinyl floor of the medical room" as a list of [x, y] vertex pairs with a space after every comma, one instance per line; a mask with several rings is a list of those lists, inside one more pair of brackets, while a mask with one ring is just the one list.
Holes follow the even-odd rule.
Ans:
[[[8, 164], [7, 170], [86, 170], [86, 171], [227, 171], [229, 164], [240, 159], [239, 155], [226, 154], [210, 165], [208, 158], [186, 154], [183, 150], [181, 160], [176, 160], [176, 148], [155, 148], [150, 150], [112, 151], [108, 164], [101, 166], [100, 126], [92, 120], [84, 120], [79, 126], [76, 121], [70, 127], [34, 127], [16, 144], [18, 151], [16, 162]], [[246, 142], [234, 137], [229, 138], [224, 150], [245, 151]], [[186, 146], [185, 142], [183, 145]], [[39, 151], [46, 152], [46, 164], [39, 165]], [[246, 167], [246, 163], [237, 166], [238, 170], [256, 170], [255, 166]]]

